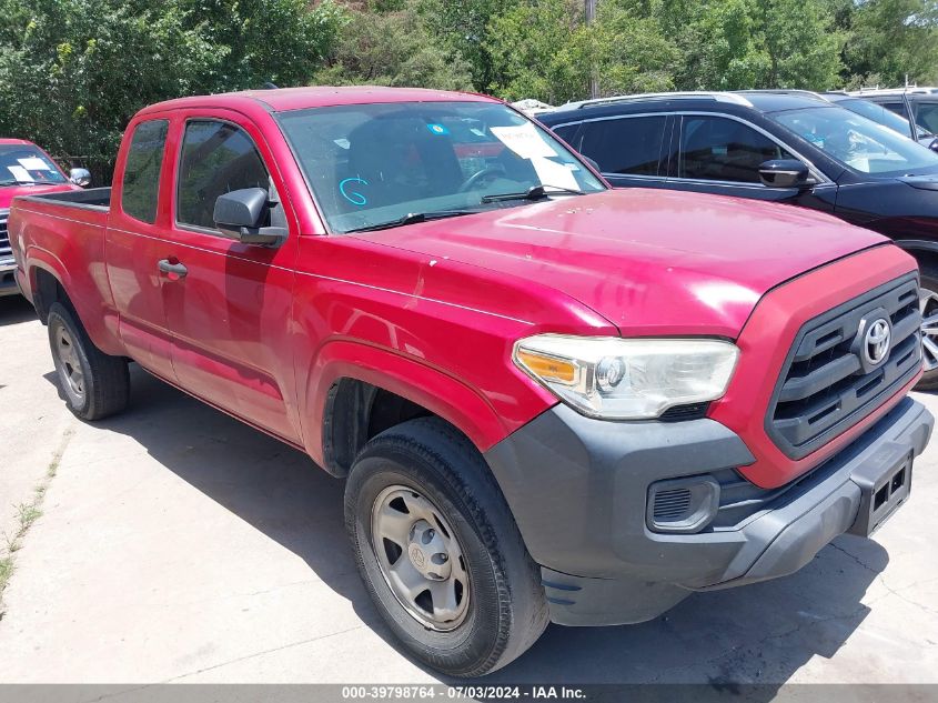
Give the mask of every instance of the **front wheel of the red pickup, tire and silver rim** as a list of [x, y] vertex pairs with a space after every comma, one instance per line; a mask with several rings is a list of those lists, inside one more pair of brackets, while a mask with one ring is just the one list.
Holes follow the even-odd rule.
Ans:
[[[461, 554], [447, 562], [453, 564], [451, 579], [465, 582], [462, 591], [455, 589], [462, 600], [451, 609], [462, 609], [458, 617], [427, 623], [434, 617], [426, 607], [430, 591], [422, 594], [423, 601], [420, 596], [409, 600], [391, 585], [387, 563], [399, 549], [397, 559], [410, 563], [395, 561], [394, 566], [412, 570], [423, 563], [411, 558], [413, 543], [404, 549], [382, 538], [377, 546], [383, 553], [375, 549], [375, 528], [384, 524], [377, 515], [382, 506], [390, 510], [394, 501], [403, 502], [395, 498], [401, 490], [411, 496], [406, 520], [425, 515], [422, 511], [427, 505], [436, 511], [427, 518], [436, 529], [420, 540], [426, 542], [425, 535], [434, 533], [437, 542], [445, 534], [448, 553]], [[390, 503], [385, 505], [384, 500]], [[416, 535], [423, 522], [413, 523], [410, 534]], [[492, 672], [524, 653], [547, 626], [539, 570], [494, 476], [475, 446], [442, 420], [411, 420], [365, 445], [345, 486], [345, 526], [359, 571], [382, 617], [414, 657], [436, 671], [452, 676]], [[435, 613], [436, 603], [432, 605]]]

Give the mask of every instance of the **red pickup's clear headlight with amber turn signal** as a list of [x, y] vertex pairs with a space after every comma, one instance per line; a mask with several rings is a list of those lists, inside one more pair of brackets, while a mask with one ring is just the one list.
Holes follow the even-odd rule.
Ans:
[[739, 349], [707, 339], [538, 334], [515, 343], [514, 361], [585, 415], [658, 418], [668, 408], [726, 392]]

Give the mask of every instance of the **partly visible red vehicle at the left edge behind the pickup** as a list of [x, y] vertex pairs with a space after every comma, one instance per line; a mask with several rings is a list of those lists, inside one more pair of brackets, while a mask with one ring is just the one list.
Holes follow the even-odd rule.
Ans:
[[67, 178], [42, 149], [22, 139], [0, 139], [0, 295], [19, 292], [7, 218], [17, 195], [54, 193], [88, 185], [90, 175], [74, 169]]

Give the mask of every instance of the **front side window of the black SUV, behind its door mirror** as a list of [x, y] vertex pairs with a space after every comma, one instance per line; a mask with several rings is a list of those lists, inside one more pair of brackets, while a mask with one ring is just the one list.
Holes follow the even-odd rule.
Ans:
[[680, 130], [678, 178], [760, 183], [759, 167], [794, 159], [752, 127], [722, 117], [685, 117]]

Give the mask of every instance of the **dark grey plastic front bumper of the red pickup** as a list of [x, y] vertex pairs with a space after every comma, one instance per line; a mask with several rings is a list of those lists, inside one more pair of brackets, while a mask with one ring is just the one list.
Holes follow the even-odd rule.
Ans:
[[[754, 456], [709, 419], [607, 422], [557, 405], [485, 458], [542, 565], [554, 622], [622, 624], [650, 620], [695, 590], [797, 571], [854, 528], [860, 483], [920, 454], [932, 425], [905, 398], [821, 466], [766, 491], [736, 473]], [[649, 485], [684, 476], [717, 481], [728, 502], [702, 532], [653, 532]]]

